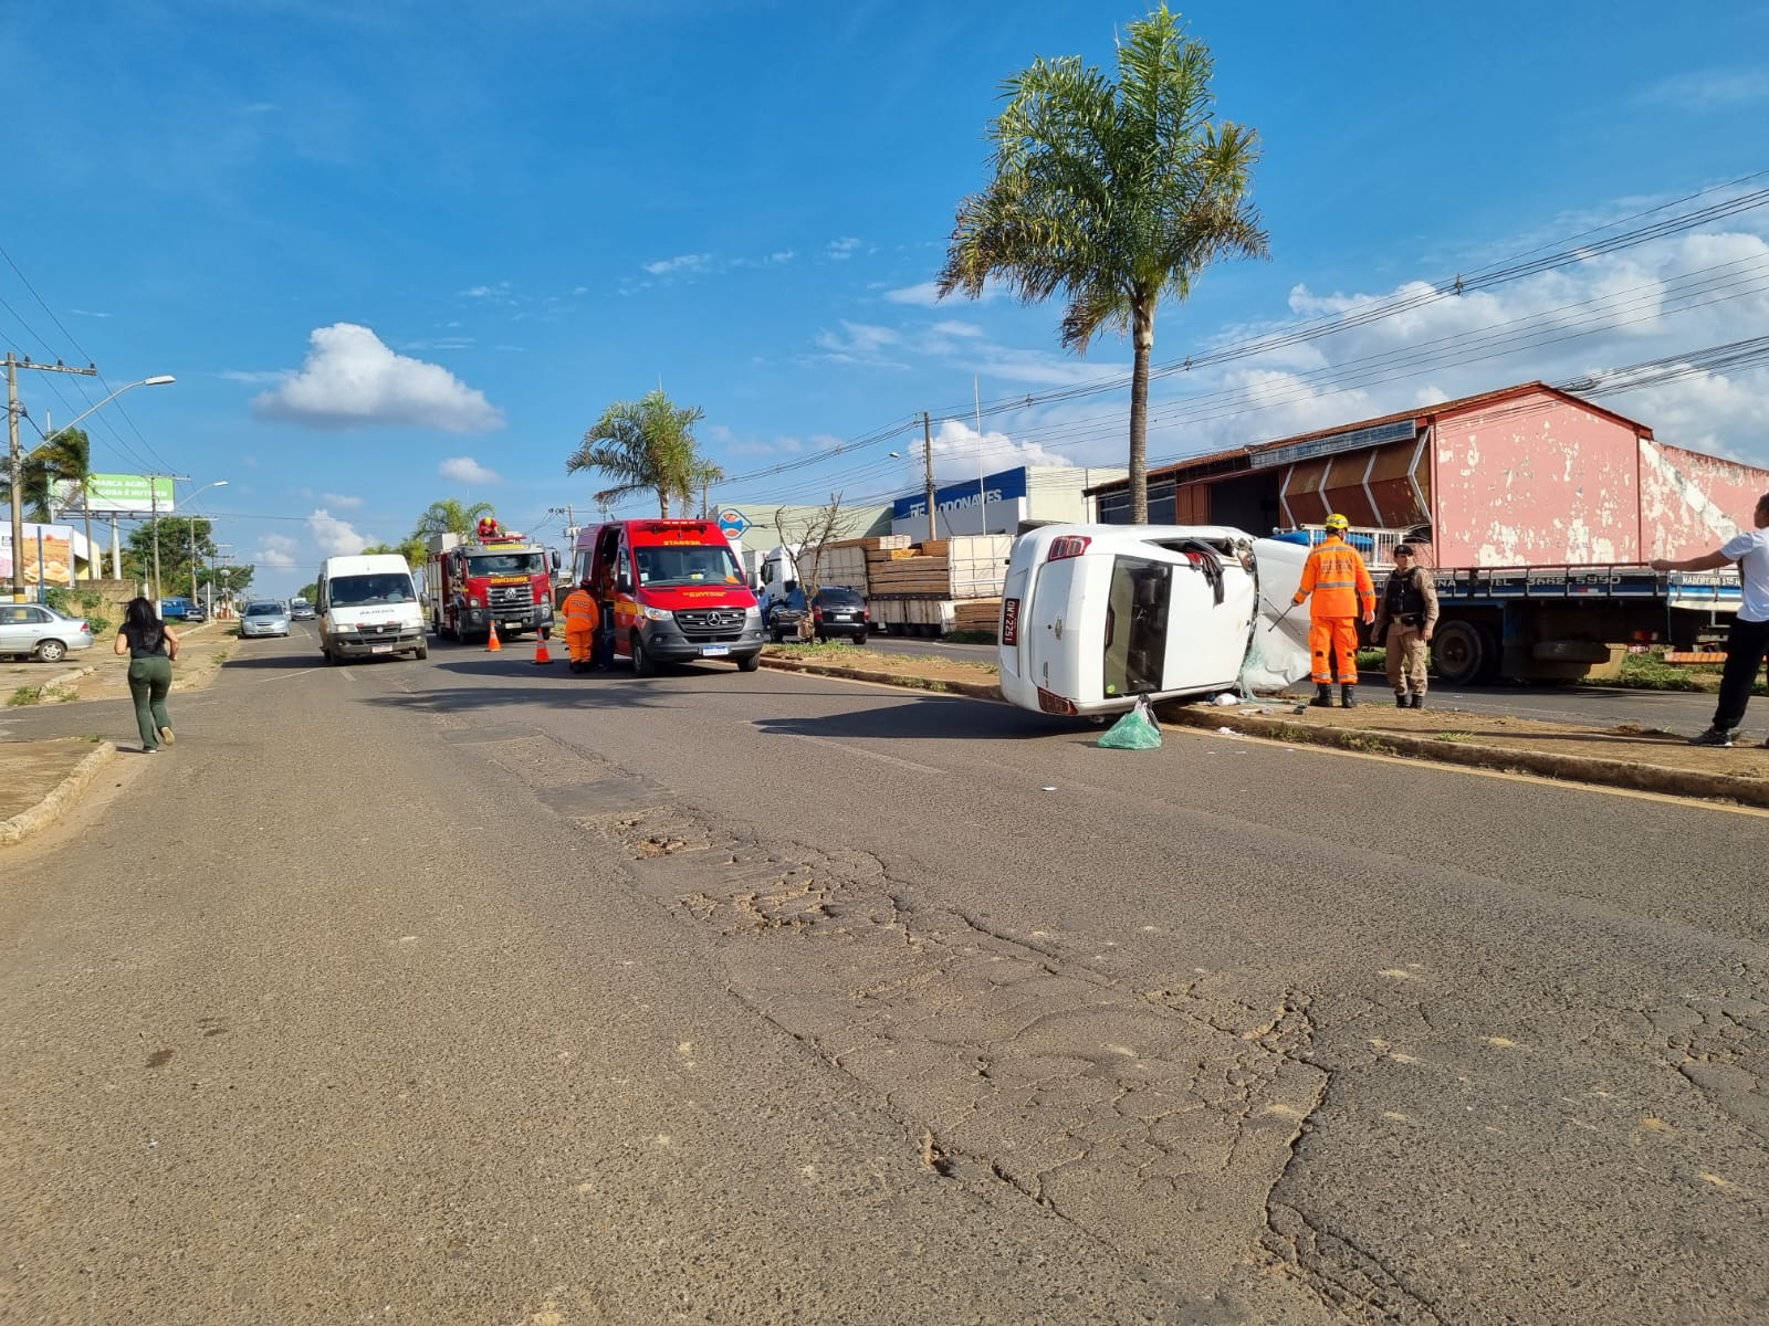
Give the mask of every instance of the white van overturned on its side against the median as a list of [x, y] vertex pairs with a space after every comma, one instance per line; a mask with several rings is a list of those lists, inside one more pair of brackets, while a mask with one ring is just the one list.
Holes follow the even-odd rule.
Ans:
[[1226, 525], [1044, 525], [1008, 557], [1001, 693], [1047, 714], [1283, 690], [1309, 674], [1309, 550]]

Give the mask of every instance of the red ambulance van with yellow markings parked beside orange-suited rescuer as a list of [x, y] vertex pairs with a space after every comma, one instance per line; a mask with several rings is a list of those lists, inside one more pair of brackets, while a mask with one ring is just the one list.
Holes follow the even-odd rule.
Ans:
[[762, 613], [713, 520], [619, 520], [578, 530], [577, 582], [589, 580], [614, 654], [653, 675], [665, 663], [762, 661]]

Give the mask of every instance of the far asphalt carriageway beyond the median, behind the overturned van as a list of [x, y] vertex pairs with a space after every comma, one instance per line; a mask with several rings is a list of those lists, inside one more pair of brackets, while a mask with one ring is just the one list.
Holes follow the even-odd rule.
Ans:
[[[867, 649], [899, 654], [934, 654], [962, 658], [976, 663], [994, 663], [994, 645], [955, 645], [945, 640], [874, 635]], [[1291, 688], [1298, 698], [1307, 684]], [[1366, 704], [1392, 704], [1387, 677], [1366, 674], [1359, 695]], [[1428, 700], [1433, 709], [1470, 714], [1509, 714], [1535, 718], [1548, 723], [1578, 723], [1581, 727], [1661, 727], [1695, 735], [1714, 716], [1714, 697], [1696, 691], [1640, 691], [1622, 686], [1445, 686], [1433, 679]], [[1769, 730], [1769, 700], [1758, 698], [1755, 713], [1746, 718], [1748, 732]]]

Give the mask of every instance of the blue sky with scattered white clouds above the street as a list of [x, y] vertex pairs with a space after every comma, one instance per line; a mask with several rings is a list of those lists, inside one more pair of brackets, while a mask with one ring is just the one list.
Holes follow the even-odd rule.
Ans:
[[[1109, 69], [1114, 30], [1143, 12], [7, 4], [0, 334], [37, 359], [92, 359], [111, 387], [177, 375], [87, 421], [94, 469], [191, 476], [180, 493], [264, 592], [402, 537], [440, 497], [557, 537], [550, 509], [582, 518], [601, 486], [564, 474], [584, 428], [660, 380], [706, 410], [713, 460], [754, 476], [715, 504], [909, 492], [920, 461], [888, 451], [916, 454], [920, 426], [897, 430], [922, 410], [943, 481], [1122, 465], [1125, 389], [1047, 398], [1114, 384], [1123, 343], [1076, 357], [1058, 304], [934, 304], [929, 283], [955, 205], [985, 180], [1001, 80], [1038, 55]], [[1157, 366], [1769, 186], [1758, 0], [1183, 12], [1215, 53], [1219, 113], [1261, 134], [1272, 260], [1212, 269], [1162, 306]], [[1150, 453], [1765, 332], [1769, 207], [1748, 207], [1164, 375]], [[35, 373], [19, 385], [35, 419], [62, 423], [104, 394]], [[978, 435], [978, 394], [1021, 403]], [[1604, 403], [1663, 440], [1769, 465], [1762, 362]]]

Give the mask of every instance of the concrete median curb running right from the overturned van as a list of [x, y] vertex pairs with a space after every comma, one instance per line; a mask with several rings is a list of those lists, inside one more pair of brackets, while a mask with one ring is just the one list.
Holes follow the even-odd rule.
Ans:
[[1334, 746], [1337, 750], [1367, 751], [1371, 755], [1403, 755], [1433, 764], [1459, 764], [1500, 773], [1527, 773], [1558, 778], [1569, 783], [1596, 783], [1624, 787], [1633, 792], [1659, 792], [1677, 797], [1705, 797], [1735, 801], [1744, 806], [1769, 806], [1769, 780], [1739, 778], [1737, 774], [1704, 774], [1693, 769], [1665, 769], [1633, 760], [1601, 760], [1590, 755], [1553, 755], [1548, 751], [1482, 746], [1481, 743], [1436, 741], [1408, 737], [1398, 732], [1364, 732], [1348, 727], [1316, 727], [1286, 723], [1283, 718], [1249, 714], [1240, 709], [1210, 705], [1159, 705], [1155, 714], [1162, 723], [1198, 727], [1215, 732], [1233, 727], [1240, 735], [1284, 741], [1291, 746]]

